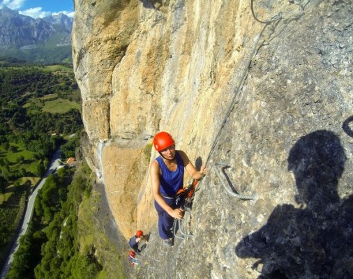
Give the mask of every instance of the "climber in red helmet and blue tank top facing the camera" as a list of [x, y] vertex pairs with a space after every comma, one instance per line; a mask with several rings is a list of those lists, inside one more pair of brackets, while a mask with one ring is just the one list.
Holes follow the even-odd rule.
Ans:
[[154, 204], [158, 212], [158, 232], [164, 243], [172, 246], [174, 219], [183, 218], [182, 202], [176, 195], [183, 188], [184, 168], [193, 179], [200, 180], [206, 174], [206, 167], [202, 165], [197, 171], [186, 153], [175, 149], [172, 136], [166, 132], [157, 133], [153, 145], [160, 154], [150, 169]]

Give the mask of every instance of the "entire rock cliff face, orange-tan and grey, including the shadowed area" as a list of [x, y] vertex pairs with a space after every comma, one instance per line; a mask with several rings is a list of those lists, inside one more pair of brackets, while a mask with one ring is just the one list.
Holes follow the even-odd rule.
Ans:
[[[352, 278], [352, 14], [350, 0], [75, 1], [84, 153], [123, 236], [151, 231], [131, 277]], [[148, 175], [159, 130], [208, 166], [181, 223], [193, 236], [169, 250]]]

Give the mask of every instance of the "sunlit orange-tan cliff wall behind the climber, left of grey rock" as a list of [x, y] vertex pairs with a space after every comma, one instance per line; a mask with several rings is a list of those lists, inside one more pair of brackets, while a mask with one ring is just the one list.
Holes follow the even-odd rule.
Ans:
[[[148, 165], [137, 172], [126, 161], [141, 160], [137, 149], [158, 130], [172, 133], [192, 160], [206, 160], [262, 28], [242, 1], [76, 3], [73, 59], [84, 126], [94, 146], [87, 151], [94, 156], [87, 157], [112, 204], [130, 199], [122, 190], [128, 185], [133, 193], [142, 190], [149, 212]], [[132, 172], [135, 184], [123, 178]], [[136, 229], [137, 212], [119, 204], [117, 223], [125, 213], [135, 216], [120, 224], [128, 236]], [[139, 222], [149, 225], [142, 211]]]

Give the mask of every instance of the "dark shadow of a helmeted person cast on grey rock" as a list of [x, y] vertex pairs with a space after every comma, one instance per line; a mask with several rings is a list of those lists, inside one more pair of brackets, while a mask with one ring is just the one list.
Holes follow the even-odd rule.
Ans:
[[290, 151], [288, 169], [296, 180], [296, 202], [282, 204], [266, 225], [236, 246], [241, 258], [260, 258], [259, 278], [353, 278], [352, 195], [340, 199], [338, 179], [345, 151], [327, 130], [301, 137]]

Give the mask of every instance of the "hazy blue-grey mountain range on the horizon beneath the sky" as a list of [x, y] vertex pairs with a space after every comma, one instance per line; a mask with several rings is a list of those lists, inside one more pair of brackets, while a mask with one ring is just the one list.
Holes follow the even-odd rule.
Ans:
[[70, 61], [72, 26], [73, 19], [63, 13], [34, 19], [3, 7], [0, 9], [0, 55], [36, 63]]

